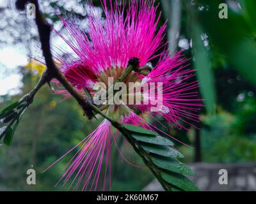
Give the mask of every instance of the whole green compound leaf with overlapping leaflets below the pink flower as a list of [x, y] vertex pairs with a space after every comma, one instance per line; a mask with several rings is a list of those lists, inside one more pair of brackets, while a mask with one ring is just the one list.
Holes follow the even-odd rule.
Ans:
[[[136, 140], [134, 149], [140, 151], [141, 157], [150, 163], [149, 168], [163, 177], [159, 182], [170, 191], [196, 191], [198, 188], [183, 175], [194, 175], [187, 166], [176, 160], [177, 157], [184, 157], [180, 152], [170, 146], [173, 143], [157, 133], [148, 131], [137, 126], [125, 125], [131, 140]], [[143, 152], [143, 150], [145, 152]], [[152, 163], [151, 163], [152, 161]], [[152, 167], [151, 167], [152, 166]], [[183, 175], [182, 175], [183, 174]], [[165, 180], [165, 182], [163, 181]], [[171, 185], [166, 185], [166, 182]]]

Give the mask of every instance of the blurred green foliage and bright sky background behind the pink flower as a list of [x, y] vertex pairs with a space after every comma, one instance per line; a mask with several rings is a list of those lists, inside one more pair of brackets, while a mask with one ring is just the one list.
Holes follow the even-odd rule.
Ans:
[[[93, 2], [101, 13], [100, 2]], [[38, 49], [40, 42], [33, 19], [15, 10], [14, 3], [0, 0], [0, 110], [31, 91], [44, 70], [29, 64], [31, 57], [42, 55]], [[190, 127], [186, 132], [159, 128], [194, 147], [175, 143], [185, 156], [183, 162], [191, 164], [195, 173], [199, 172], [196, 183], [203, 190], [218, 190], [218, 186], [209, 185], [212, 178], [218, 182], [220, 168], [232, 172], [230, 178], [234, 182], [226, 190], [253, 190], [254, 187], [256, 190], [256, 1], [162, 0], [157, 3], [158, 12], [162, 13], [159, 27], [168, 19], [164, 40], [170, 41], [170, 55], [184, 49], [191, 69], [196, 69], [201, 84], [198, 91], [205, 99], [201, 122], [195, 124], [200, 129]], [[77, 24], [86, 29], [86, 1], [44, 0], [40, 5], [45, 18], [63, 35], [65, 29], [56, 11], [65, 17], [76, 15]], [[70, 51], [54, 34], [52, 41]], [[52, 94], [45, 86], [21, 120], [12, 145], [0, 144], [0, 190], [65, 190], [61, 184], [57, 187], [54, 184], [60, 179], [68, 157], [51, 170], [41, 171], [99, 123], [88, 121], [74, 99], [63, 101], [63, 96]], [[142, 164], [129, 144], [122, 140], [118, 143], [126, 159]], [[150, 170], [127, 164], [115, 148], [112, 159], [112, 191], [140, 191], [154, 180]], [[35, 186], [26, 184], [29, 168], [36, 170]], [[159, 187], [153, 182], [150, 189]]]

